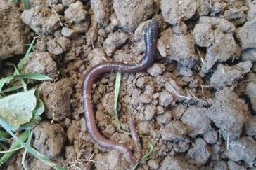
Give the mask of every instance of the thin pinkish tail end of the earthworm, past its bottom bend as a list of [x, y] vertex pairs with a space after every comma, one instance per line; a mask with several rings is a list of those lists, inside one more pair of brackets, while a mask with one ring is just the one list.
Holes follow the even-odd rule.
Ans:
[[135, 144], [135, 148], [138, 153], [138, 156], [141, 157], [142, 156], [142, 148], [141, 148], [141, 143], [139, 143], [139, 136], [138, 136], [138, 132], [137, 132], [134, 120], [130, 120], [129, 129], [131, 131], [132, 139], [134, 140], [134, 144]]

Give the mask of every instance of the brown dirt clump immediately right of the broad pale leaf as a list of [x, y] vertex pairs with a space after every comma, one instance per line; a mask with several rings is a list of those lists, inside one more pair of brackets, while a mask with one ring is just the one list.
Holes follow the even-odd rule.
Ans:
[[70, 115], [70, 95], [72, 94], [70, 78], [56, 83], [42, 83], [39, 94], [45, 104], [47, 118], [60, 121]]

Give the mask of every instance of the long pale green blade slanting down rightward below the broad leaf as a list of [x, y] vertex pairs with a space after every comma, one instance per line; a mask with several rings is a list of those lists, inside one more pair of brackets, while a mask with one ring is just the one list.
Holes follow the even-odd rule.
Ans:
[[34, 155], [34, 157], [37, 157], [37, 159], [41, 160], [42, 162], [44, 162], [45, 164], [48, 164], [50, 167], [53, 167], [53, 169], [56, 170], [64, 170], [63, 167], [60, 167], [58, 164], [55, 164], [54, 162], [52, 162], [51, 160], [49, 160], [48, 157], [45, 157], [44, 155], [42, 155], [41, 153], [39, 153], [37, 150], [35, 150], [34, 148], [31, 148], [30, 146], [27, 146], [26, 143], [24, 143], [22, 140], [20, 140], [17, 136], [15, 136], [15, 134], [13, 134], [13, 132], [11, 131], [11, 127], [10, 125], [8, 125], [8, 123], [3, 120], [2, 118], [0, 118], [0, 125], [1, 127], [3, 127], [6, 132], [8, 132], [9, 134], [11, 134], [11, 136], [13, 136], [13, 139], [15, 139], [21, 146], [23, 146], [23, 148], [25, 148], [29, 153], [31, 153], [32, 155]]

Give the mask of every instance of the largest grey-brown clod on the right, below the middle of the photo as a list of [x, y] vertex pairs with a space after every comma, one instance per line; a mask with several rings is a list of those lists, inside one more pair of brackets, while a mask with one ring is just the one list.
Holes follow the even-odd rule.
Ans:
[[225, 87], [215, 93], [215, 100], [206, 112], [207, 116], [222, 132], [224, 139], [236, 139], [240, 136], [248, 108], [238, 95]]

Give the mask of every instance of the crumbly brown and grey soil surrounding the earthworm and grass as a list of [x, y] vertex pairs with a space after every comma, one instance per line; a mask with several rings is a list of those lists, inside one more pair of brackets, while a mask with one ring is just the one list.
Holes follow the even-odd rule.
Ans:
[[[136, 120], [154, 146], [138, 169], [255, 169], [255, 9], [251, 0], [35, 0], [23, 11], [0, 0], [0, 78], [8, 72], [1, 63], [24, 52], [25, 37], [39, 36], [23, 72], [54, 81], [39, 85], [46, 111], [32, 146], [68, 169], [131, 169], [123, 155], [91, 141], [82, 79], [107, 60], [139, 62], [146, 25], [158, 20], [158, 59], [147, 71], [122, 74], [118, 101], [122, 129]], [[114, 84], [115, 73], [94, 83], [98, 129], [134, 150], [115, 127]], [[146, 152], [146, 139], [141, 145]], [[20, 160], [18, 153], [4, 168], [20, 169]], [[51, 169], [34, 158], [27, 164]]]

